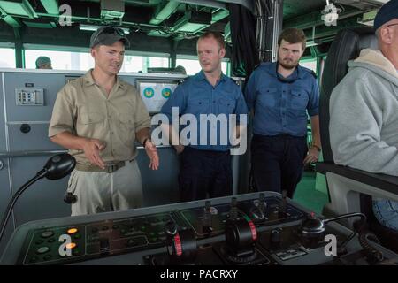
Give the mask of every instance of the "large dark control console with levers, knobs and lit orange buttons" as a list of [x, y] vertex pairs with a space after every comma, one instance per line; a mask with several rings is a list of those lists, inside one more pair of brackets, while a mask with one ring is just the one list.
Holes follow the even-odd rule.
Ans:
[[264, 192], [30, 222], [12, 235], [1, 264], [391, 264], [396, 259], [376, 243], [368, 246], [344, 226], [284, 195]]

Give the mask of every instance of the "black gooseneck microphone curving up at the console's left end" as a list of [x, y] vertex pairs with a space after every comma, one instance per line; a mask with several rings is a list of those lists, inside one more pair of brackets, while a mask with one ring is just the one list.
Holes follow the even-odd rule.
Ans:
[[67, 153], [62, 153], [51, 157], [49, 161], [47, 161], [47, 163], [44, 165], [44, 168], [40, 172], [36, 173], [36, 176], [34, 176], [34, 178], [28, 180], [22, 187], [19, 188], [15, 195], [12, 195], [11, 201], [8, 203], [7, 209], [5, 210], [5, 214], [0, 225], [0, 241], [2, 241], [5, 226], [7, 225], [8, 218], [10, 218], [11, 216], [11, 211], [14, 207], [14, 204], [17, 202], [19, 196], [22, 195], [22, 193], [27, 189], [27, 187], [30, 187], [37, 180], [43, 179], [44, 177], [49, 180], [62, 179], [73, 171], [75, 165], [76, 160], [74, 159], [74, 157]]

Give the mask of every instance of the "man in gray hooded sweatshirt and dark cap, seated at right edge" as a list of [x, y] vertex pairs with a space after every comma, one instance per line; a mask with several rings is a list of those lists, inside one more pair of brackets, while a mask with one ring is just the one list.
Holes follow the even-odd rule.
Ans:
[[[398, 176], [398, 0], [380, 8], [374, 28], [379, 50], [362, 50], [333, 89], [330, 142], [336, 164]], [[373, 211], [398, 230], [398, 203], [373, 199]]]

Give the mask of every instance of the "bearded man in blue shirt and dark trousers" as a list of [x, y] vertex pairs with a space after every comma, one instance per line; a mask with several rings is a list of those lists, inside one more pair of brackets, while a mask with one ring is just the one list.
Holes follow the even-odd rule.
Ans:
[[[253, 111], [251, 160], [258, 190], [293, 197], [304, 164], [316, 162], [319, 137], [319, 88], [315, 74], [298, 62], [305, 50], [302, 30], [288, 28], [279, 35], [278, 62], [262, 63], [250, 75], [246, 100]], [[312, 145], [308, 149], [310, 115]]]

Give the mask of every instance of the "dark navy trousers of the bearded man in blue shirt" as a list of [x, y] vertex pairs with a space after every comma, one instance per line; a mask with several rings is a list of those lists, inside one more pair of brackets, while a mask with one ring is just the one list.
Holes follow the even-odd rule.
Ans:
[[287, 197], [293, 197], [302, 179], [307, 151], [305, 136], [255, 134], [251, 142], [251, 163], [256, 189], [278, 193], [287, 190]]

